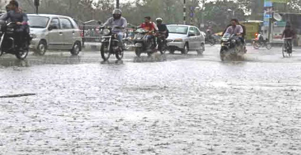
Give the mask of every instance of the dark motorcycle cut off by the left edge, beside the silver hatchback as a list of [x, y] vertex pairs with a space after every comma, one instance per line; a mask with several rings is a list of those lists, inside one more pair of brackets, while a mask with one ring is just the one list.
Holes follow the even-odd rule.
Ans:
[[31, 37], [25, 34], [23, 37], [22, 47], [16, 45], [15, 28], [16, 22], [7, 22], [0, 20], [0, 56], [3, 54], [14, 54], [19, 59], [25, 59], [28, 55]]

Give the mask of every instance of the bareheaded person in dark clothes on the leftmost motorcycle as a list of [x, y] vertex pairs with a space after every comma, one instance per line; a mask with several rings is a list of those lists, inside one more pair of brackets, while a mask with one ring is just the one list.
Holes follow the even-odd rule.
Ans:
[[22, 42], [24, 42], [25, 36], [29, 36], [27, 14], [22, 12], [22, 10], [19, 8], [19, 3], [16, 0], [11, 0], [7, 9], [9, 11], [1, 16], [0, 20], [16, 22], [16, 44], [19, 49], [22, 49]]

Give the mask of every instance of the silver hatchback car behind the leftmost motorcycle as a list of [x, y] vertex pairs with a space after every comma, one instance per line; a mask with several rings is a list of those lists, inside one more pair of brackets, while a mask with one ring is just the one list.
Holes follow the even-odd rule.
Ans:
[[76, 22], [69, 16], [28, 14], [30, 48], [44, 55], [47, 49], [70, 50], [72, 55], [81, 51], [82, 38]]

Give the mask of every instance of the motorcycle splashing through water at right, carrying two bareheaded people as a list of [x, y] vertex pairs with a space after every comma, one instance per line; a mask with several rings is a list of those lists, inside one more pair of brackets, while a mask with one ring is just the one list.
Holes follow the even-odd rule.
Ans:
[[225, 33], [221, 38], [220, 58], [223, 61], [226, 57], [243, 55], [244, 45], [236, 34]]

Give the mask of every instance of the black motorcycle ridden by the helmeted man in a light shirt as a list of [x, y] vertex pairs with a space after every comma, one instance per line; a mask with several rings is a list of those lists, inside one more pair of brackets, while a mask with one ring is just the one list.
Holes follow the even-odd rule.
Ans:
[[101, 47], [100, 53], [104, 61], [108, 60], [111, 54], [115, 54], [118, 60], [123, 57], [123, 48], [119, 45], [117, 34], [112, 32], [111, 27], [101, 27]]

